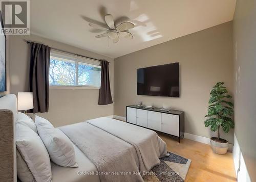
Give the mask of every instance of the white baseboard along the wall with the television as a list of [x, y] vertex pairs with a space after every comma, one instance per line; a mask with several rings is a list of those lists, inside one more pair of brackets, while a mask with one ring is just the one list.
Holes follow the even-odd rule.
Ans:
[[[122, 117], [122, 116], [113, 115], [113, 118], [119, 119], [121, 121], [126, 121], [126, 117]], [[184, 138], [210, 145], [210, 139], [207, 137], [184, 133]], [[233, 144], [228, 144], [228, 151], [232, 152], [232, 150], [233, 150]]]

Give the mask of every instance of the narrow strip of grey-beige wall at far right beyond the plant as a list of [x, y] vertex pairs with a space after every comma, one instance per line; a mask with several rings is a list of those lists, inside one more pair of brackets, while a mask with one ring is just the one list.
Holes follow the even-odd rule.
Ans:
[[256, 181], [256, 2], [237, 1], [233, 20], [234, 121], [251, 181]]

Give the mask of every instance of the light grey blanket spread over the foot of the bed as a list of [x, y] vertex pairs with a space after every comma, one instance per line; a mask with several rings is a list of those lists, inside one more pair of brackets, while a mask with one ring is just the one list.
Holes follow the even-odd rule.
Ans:
[[155, 132], [111, 118], [60, 129], [96, 166], [101, 181], [143, 181], [145, 172], [167, 154], [165, 142]]

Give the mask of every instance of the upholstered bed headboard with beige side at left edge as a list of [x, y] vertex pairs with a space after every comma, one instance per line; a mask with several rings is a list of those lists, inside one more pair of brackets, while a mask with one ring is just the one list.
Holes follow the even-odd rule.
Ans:
[[17, 181], [15, 124], [17, 98], [9, 94], [0, 98], [0, 181]]

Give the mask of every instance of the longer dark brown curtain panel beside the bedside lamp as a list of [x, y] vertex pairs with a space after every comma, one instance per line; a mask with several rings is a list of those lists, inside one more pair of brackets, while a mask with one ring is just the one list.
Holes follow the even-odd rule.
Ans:
[[33, 113], [45, 113], [49, 109], [49, 65], [51, 47], [31, 43], [30, 91], [33, 92]]

